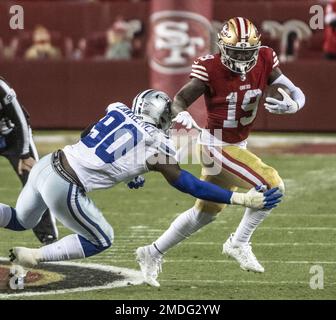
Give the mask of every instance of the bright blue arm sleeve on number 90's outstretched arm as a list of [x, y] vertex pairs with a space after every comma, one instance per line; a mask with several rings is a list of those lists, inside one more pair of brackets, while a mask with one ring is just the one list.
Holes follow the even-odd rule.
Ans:
[[185, 170], [181, 170], [178, 179], [171, 185], [181, 192], [191, 194], [195, 198], [231, 204], [232, 191], [222, 189], [210, 182], [199, 180]]

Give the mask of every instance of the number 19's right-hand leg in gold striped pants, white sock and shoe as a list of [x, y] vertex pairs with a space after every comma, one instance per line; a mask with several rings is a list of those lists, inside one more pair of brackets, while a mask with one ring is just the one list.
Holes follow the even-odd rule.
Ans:
[[[236, 186], [249, 189], [257, 185], [266, 185], [268, 188], [278, 187], [279, 191], [284, 193], [284, 184], [278, 172], [250, 151], [236, 146], [225, 147], [222, 151], [211, 151], [222, 163], [223, 175], [233, 180]], [[270, 212], [271, 210], [246, 208], [237, 230], [223, 245], [223, 252], [235, 258], [244, 270], [264, 272], [264, 268], [252, 252], [249, 241]]]

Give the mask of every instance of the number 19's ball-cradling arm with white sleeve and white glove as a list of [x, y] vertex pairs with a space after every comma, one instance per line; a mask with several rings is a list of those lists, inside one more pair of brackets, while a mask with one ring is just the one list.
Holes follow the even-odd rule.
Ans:
[[266, 98], [265, 107], [269, 112], [276, 114], [289, 114], [296, 113], [304, 107], [306, 102], [304, 93], [281, 72], [279, 67], [272, 70], [268, 78], [268, 84], [283, 84], [291, 92], [291, 94], [288, 95], [283, 89], [279, 88], [278, 91], [283, 96], [282, 101], [270, 97]]

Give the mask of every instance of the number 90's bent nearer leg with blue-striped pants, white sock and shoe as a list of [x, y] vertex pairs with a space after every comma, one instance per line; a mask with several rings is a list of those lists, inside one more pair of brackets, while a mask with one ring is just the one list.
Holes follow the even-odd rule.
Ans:
[[111, 246], [112, 227], [79, 187], [52, 172], [41, 194], [57, 220], [74, 234], [39, 249], [13, 248], [13, 261], [35, 266], [39, 262], [82, 259]]

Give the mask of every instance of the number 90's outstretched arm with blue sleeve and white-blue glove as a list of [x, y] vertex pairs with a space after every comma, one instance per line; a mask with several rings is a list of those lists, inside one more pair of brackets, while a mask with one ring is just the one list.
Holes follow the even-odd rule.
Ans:
[[173, 158], [159, 154], [147, 160], [149, 170], [160, 172], [168, 183], [177, 190], [195, 198], [217, 203], [243, 205], [254, 209], [276, 207], [282, 197], [278, 188], [260, 193], [255, 189], [248, 193], [232, 192], [210, 182], [202, 181], [191, 173], [182, 170]]

